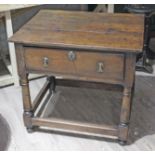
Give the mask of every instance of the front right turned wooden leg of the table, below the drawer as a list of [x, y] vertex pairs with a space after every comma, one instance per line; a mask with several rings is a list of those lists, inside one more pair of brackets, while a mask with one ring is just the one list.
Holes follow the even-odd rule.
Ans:
[[127, 142], [129, 119], [131, 113], [132, 90], [133, 88], [124, 88], [123, 91], [123, 100], [118, 132], [118, 139], [121, 145], [124, 145]]

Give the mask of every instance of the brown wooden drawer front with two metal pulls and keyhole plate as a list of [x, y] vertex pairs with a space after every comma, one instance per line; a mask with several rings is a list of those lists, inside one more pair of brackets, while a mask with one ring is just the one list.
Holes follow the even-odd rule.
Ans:
[[28, 70], [123, 80], [123, 54], [25, 48], [25, 61]]

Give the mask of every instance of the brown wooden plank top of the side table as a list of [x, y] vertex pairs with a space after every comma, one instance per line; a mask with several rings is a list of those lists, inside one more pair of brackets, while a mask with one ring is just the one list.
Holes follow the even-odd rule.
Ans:
[[9, 41], [33, 46], [141, 52], [144, 16], [41, 10]]

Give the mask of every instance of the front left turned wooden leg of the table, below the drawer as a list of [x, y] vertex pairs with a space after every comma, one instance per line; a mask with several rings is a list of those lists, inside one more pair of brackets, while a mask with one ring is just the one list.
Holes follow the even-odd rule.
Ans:
[[30, 91], [29, 91], [29, 82], [28, 82], [28, 75], [26, 74], [25, 77], [21, 78], [21, 86], [22, 86], [22, 96], [23, 96], [23, 107], [24, 107], [24, 124], [27, 128], [28, 132], [33, 131], [31, 118], [33, 117], [32, 112], [32, 104], [30, 99]]

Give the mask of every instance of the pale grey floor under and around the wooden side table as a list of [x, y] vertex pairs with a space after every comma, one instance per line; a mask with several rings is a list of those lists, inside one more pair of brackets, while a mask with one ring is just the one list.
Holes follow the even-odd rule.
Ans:
[[[31, 96], [33, 99], [43, 83], [44, 79], [30, 82], [32, 90]], [[54, 132], [34, 132], [33, 134], [28, 134], [24, 128], [22, 119], [21, 88], [10, 86], [0, 89], [0, 113], [8, 122], [11, 131], [8, 150], [155, 150], [154, 88], [154, 77], [136, 77], [129, 144], [124, 147], [113, 141], [68, 136]], [[65, 93], [64, 90], [66, 91]], [[90, 90], [89, 92], [87, 89], [82, 89], [79, 94], [76, 94], [76, 92], [79, 91], [75, 88], [59, 87], [57, 89], [57, 94], [58, 97], [60, 95], [60, 98], [57, 99], [58, 104], [56, 104], [55, 107], [57, 110], [53, 113], [54, 117], [60, 117], [60, 114], [62, 114], [63, 117], [69, 118], [71, 116], [72, 118], [75, 114], [74, 116], [76, 117], [73, 117], [75, 119], [84, 118], [84, 120], [87, 120], [87, 118], [91, 117], [96, 118], [94, 120], [92, 119], [92, 121], [97, 120], [99, 123], [101, 123], [101, 121], [109, 122], [109, 120], [111, 120], [112, 123], [117, 123], [120, 109], [119, 103], [117, 102], [120, 100], [119, 93], [110, 93], [104, 90], [100, 90], [100, 92]], [[80, 108], [75, 112], [73, 112], [75, 108], [67, 111], [67, 106], [69, 107], [68, 103], [75, 103], [77, 101], [76, 97], [82, 98], [82, 103], [86, 103], [85, 107], [82, 104], [80, 107], [87, 111], [90, 117], [84, 113], [80, 114]], [[101, 101], [103, 101], [103, 106], [101, 105]], [[63, 104], [62, 102], [65, 104], [60, 106], [60, 103]], [[92, 110], [92, 105], [95, 103], [98, 108]], [[76, 104], [73, 106], [76, 107]], [[62, 113], [61, 107], [63, 111], [65, 109], [67, 115]], [[97, 115], [95, 115], [96, 111], [98, 111]], [[102, 117], [99, 117], [100, 114], [102, 114]], [[50, 113], [49, 116], [51, 116]]]

